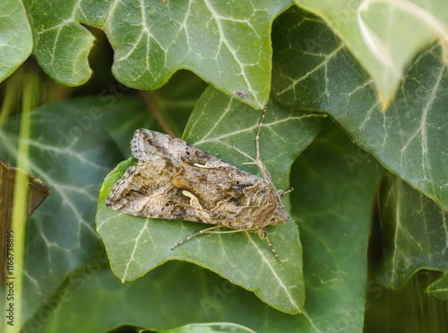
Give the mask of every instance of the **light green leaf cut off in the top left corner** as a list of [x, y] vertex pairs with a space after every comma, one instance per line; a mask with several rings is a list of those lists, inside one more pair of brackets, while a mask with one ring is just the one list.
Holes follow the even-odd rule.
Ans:
[[0, 2], [0, 82], [30, 56], [32, 35], [21, 0]]

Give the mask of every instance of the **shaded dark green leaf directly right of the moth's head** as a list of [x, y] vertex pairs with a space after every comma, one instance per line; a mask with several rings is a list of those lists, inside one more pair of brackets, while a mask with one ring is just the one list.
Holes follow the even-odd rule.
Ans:
[[306, 281], [306, 319], [297, 331], [361, 332], [372, 203], [383, 168], [329, 118], [291, 172]]

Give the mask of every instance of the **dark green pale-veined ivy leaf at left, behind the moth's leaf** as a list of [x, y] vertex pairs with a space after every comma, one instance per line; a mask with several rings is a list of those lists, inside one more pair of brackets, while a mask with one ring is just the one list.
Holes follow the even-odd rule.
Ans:
[[[103, 97], [114, 98], [64, 101], [30, 112], [30, 172], [51, 194], [27, 222], [25, 320], [73, 269], [108, 264], [94, 226], [100, 184], [123, 159], [116, 143], [130, 140], [134, 129], [150, 126], [152, 118], [140, 101]], [[12, 165], [17, 125], [13, 118], [0, 130], [0, 156]]]

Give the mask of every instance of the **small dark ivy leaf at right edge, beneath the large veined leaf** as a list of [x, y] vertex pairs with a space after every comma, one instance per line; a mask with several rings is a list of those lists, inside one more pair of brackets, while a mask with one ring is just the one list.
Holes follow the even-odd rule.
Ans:
[[448, 214], [392, 175], [383, 181], [381, 197], [386, 254], [383, 282], [398, 288], [419, 269], [444, 271]]

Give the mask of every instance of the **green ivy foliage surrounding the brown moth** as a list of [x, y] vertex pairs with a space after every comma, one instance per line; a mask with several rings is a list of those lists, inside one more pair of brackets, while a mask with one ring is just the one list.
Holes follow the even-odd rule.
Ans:
[[[0, 77], [12, 75], [0, 157], [15, 165], [24, 140], [30, 172], [52, 192], [26, 223], [13, 331], [444, 331], [442, 3], [0, 4]], [[25, 69], [13, 72], [31, 49], [49, 77], [40, 92], [56, 98], [13, 116], [6, 101]], [[263, 162], [277, 188], [295, 188], [284, 198], [291, 221], [268, 228], [281, 265], [256, 233], [202, 235], [172, 251], [202, 225], [105, 206], [140, 127], [260, 175], [232, 142], [254, 156], [265, 104]]]

